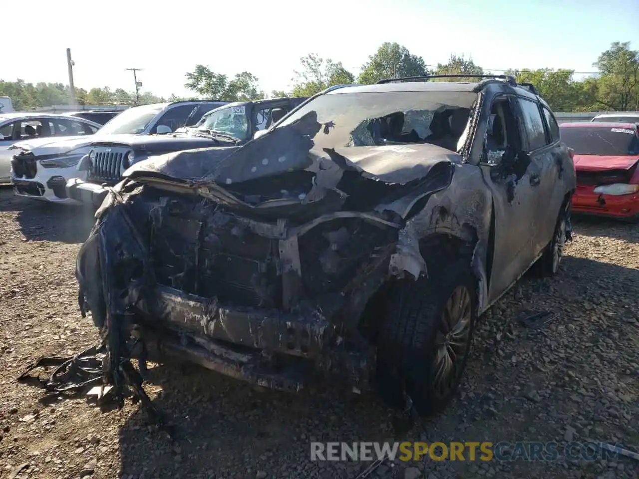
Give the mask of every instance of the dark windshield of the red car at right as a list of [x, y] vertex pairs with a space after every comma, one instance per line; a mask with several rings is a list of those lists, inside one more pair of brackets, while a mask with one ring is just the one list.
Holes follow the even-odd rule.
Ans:
[[639, 140], [635, 130], [608, 126], [560, 127], [561, 140], [575, 155], [637, 155]]

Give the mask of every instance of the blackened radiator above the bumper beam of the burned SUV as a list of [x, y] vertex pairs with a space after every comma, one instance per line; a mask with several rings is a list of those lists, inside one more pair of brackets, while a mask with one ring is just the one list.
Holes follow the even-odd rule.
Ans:
[[[165, 197], [166, 198], [166, 197]], [[259, 236], [206, 202], [166, 199], [150, 215], [157, 282], [247, 307], [281, 307], [277, 240]]]

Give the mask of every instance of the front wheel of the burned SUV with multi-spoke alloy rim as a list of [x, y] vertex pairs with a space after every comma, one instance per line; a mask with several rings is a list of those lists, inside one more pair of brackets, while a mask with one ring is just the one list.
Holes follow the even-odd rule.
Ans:
[[456, 261], [431, 278], [403, 280], [392, 289], [378, 346], [378, 384], [390, 406], [403, 407], [405, 391], [427, 416], [454, 395], [477, 314], [469, 264]]

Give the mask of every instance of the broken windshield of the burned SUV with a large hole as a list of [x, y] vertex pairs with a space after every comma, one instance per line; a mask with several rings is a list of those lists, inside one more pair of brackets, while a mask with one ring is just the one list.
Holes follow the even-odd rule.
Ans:
[[477, 93], [468, 91], [389, 91], [329, 93], [286, 118], [289, 125], [311, 111], [323, 128], [320, 148], [432, 143], [458, 151]]

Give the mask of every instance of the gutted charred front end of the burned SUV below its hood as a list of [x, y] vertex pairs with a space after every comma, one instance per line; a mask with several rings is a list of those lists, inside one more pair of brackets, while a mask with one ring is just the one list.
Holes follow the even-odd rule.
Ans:
[[[85, 243], [100, 253], [81, 253], [94, 321], [105, 310], [123, 318], [104, 321], [120, 331], [107, 337], [137, 331], [151, 358], [188, 358], [281, 390], [329, 373], [368, 387], [374, 356], [359, 320], [388, 277], [396, 225], [344, 211], [266, 222], [199, 195], [134, 190]], [[105, 310], [100, 282], [110, 285]]]

